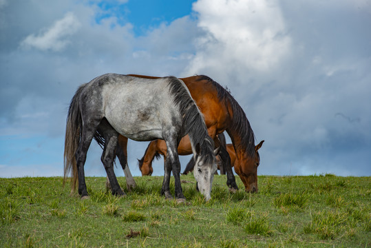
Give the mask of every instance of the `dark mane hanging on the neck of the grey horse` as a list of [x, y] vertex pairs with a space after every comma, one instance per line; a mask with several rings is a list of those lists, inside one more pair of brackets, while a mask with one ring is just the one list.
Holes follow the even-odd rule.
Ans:
[[[180, 115], [183, 118], [182, 133], [189, 134], [192, 146], [200, 144], [200, 154], [204, 156], [204, 161], [212, 163], [214, 141], [207, 132], [204, 116], [189, 94], [187, 86], [173, 76], [169, 76], [168, 80], [170, 92], [174, 96], [174, 104], [179, 107]], [[179, 141], [180, 138], [182, 137], [179, 137]]]

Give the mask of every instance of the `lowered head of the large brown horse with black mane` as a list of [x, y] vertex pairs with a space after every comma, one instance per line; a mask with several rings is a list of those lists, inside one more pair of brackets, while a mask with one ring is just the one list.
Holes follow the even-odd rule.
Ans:
[[240, 176], [242, 183], [245, 185], [246, 192], [255, 193], [257, 192], [257, 167], [260, 163], [259, 152], [257, 150], [262, 147], [264, 141], [260, 141], [259, 144], [255, 146], [255, 154], [254, 156], [248, 156], [248, 158], [244, 158], [240, 161], [243, 163], [240, 165], [240, 169], [235, 169], [239, 171], [236, 173]]

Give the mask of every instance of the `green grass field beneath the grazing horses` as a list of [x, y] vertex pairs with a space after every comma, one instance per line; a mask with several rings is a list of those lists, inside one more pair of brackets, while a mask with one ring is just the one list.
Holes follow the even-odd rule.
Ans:
[[215, 176], [205, 203], [182, 175], [185, 204], [160, 196], [162, 177], [135, 179], [133, 192], [116, 197], [105, 178], [86, 178], [90, 199], [80, 200], [59, 177], [0, 178], [0, 247], [371, 245], [370, 177], [259, 176], [257, 194], [236, 177], [231, 194], [226, 176]]

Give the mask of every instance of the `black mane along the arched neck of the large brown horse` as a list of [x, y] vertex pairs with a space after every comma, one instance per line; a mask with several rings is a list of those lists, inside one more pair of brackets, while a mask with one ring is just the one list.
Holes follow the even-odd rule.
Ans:
[[[241, 139], [242, 149], [244, 149], [250, 156], [255, 156], [255, 134], [251, 128], [250, 123], [246, 117], [244, 110], [240, 104], [234, 99], [229, 90], [224, 89], [222, 85], [213, 81], [209, 76], [200, 75], [196, 81], [209, 81], [217, 90], [220, 101], [226, 101], [233, 111], [232, 125], [226, 131], [237, 133]], [[231, 137], [233, 138], [233, 137]]]

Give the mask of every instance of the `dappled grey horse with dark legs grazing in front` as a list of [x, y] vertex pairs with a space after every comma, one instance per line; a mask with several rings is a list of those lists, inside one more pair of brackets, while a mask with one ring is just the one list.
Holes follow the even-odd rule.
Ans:
[[[195, 179], [206, 200], [211, 198], [211, 185], [216, 171], [214, 144], [200, 110], [182, 81], [173, 76], [140, 79], [104, 74], [78, 88], [67, 115], [64, 180], [72, 169], [72, 175], [78, 177], [78, 194], [82, 198], [88, 197], [84, 164], [92, 138], [103, 145], [101, 161], [112, 194], [124, 194], [113, 169], [119, 134], [135, 141], [165, 140], [167, 161], [161, 194], [172, 198], [169, 189], [172, 171], [175, 196], [180, 202], [185, 198], [180, 185], [177, 147], [180, 139], [189, 134], [197, 168]], [[74, 182], [76, 179], [72, 180], [72, 190]]]

